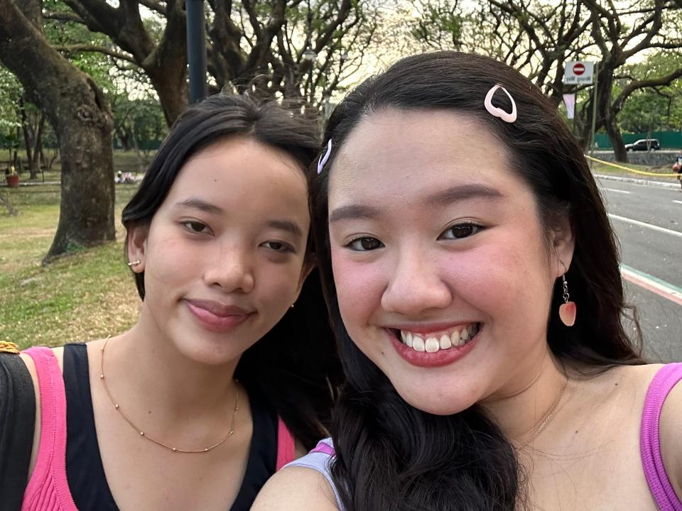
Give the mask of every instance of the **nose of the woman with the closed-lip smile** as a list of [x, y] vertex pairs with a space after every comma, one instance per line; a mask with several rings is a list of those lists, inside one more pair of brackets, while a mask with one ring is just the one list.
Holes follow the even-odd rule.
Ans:
[[222, 292], [248, 293], [254, 289], [255, 254], [237, 243], [222, 243], [217, 254], [210, 258], [204, 281]]

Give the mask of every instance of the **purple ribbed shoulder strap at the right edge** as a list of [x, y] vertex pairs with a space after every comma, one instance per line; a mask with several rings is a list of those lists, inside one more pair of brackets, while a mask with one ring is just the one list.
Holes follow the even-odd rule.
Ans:
[[642, 429], [639, 448], [642, 453], [644, 476], [649, 483], [651, 495], [661, 511], [682, 511], [682, 500], [676, 495], [670, 483], [661, 457], [659, 421], [666, 397], [673, 387], [682, 380], [682, 363], [663, 366], [651, 380], [644, 400]]

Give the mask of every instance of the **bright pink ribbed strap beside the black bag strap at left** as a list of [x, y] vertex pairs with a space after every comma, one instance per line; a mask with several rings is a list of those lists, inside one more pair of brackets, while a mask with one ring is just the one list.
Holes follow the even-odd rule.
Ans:
[[40, 389], [40, 441], [22, 511], [77, 511], [66, 478], [66, 394], [59, 363], [50, 348], [29, 348]]

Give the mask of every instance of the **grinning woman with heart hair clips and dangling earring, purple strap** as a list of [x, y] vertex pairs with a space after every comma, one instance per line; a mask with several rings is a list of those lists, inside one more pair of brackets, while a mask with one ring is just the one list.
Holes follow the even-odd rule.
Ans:
[[630, 339], [556, 104], [487, 57], [415, 55], [348, 94], [323, 148], [313, 233], [347, 382], [331, 439], [254, 511], [682, 510], [682, 364]]

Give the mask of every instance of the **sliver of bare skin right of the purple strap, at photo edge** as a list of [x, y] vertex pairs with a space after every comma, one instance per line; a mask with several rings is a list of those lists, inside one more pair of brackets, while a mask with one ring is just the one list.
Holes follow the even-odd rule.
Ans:
[[661, 420], [659, 439], [661, 456], [673, 488], [682, 498], [682, 383], [678, 382], [666, 398]]

